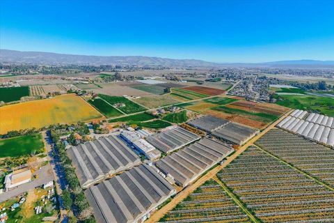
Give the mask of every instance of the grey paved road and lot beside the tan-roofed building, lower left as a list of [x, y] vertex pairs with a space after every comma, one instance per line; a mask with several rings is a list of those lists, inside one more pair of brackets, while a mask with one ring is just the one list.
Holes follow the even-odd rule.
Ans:
[[22, 185], [19, 185], [14, 190], [10, 190], [8, 192], [0, 194], [0, 203], [12, 197], [19, 196], [19, 194], [32, 190], [35, 187], [39, 187], [45, 183], [48, 183], [51, 180], [54, 180], [54, 175], [52, 174], [52, 169], [50, 164], [47, 164], [41, 169], [38, 169], [37, 171], [35, 171], [34, 174], [38, 174], [39, 178], [34, 179], [30, 183], [24, 183]]

